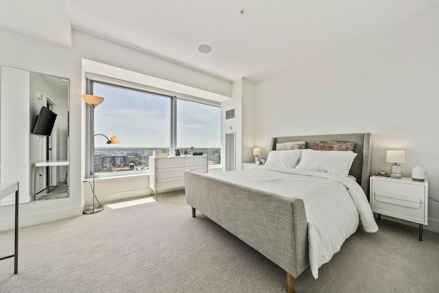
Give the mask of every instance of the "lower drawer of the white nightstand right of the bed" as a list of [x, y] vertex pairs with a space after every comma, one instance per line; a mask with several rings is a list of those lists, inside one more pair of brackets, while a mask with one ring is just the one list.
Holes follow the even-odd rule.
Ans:
[[425, 222], [425, 206], [420, 200], [412, 202], [379, 196], [377, 194], [372, 196], [374, 197], [372, 200], [372, 210], [375, 213], [390, 215], [403, 220]]

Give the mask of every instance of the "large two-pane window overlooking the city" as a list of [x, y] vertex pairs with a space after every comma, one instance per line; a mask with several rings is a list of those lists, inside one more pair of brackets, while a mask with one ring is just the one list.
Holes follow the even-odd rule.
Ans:
[[[203, 152], [209, 164], [220, 163], [221, 109], [203, 104], [192, 97], [176, 97], [133, 89], [120, 84], [87, 80], [88, 93], [105, 98], [96, 106], [94, 117], [88, 113], [88, 133], [95, 131], [95, 176], [128, 175], [149, 172], [149, 157], [154, 150], [167, 150], [174, 155], [178, 149]], [[140, 85], [139, 85], [140, 86]], [[196, 102], [195, 102], [196, 101]], [[89, 110], [89, 108], [88, 108]], [[120, 144], [106, 144], [115, 134]], [[90, 137], [91, 135], [87, 135]], [[178, 146], [178, 148], [177, 148]], [[92, 175], [93, 157], [88, 141], [86, 168]]]

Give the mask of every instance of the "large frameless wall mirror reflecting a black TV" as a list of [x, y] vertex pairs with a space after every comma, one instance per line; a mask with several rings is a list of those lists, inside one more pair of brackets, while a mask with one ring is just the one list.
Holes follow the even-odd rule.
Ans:
[[19, 182], [20, 203], [69, 196], [69, 83], [1, 67], [0, 180]]

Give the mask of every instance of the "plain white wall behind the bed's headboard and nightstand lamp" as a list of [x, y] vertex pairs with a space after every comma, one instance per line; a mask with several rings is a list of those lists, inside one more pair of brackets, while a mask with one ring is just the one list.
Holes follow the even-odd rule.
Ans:
[[[403, 176], [427, 170], [439, 200], [439, 15], [431, 10], [256, 85], [256, 144], [296, 134], [372, 133], [372, 173], [405, 150]], [[439, 231], [439, 203], [429, 200]]]

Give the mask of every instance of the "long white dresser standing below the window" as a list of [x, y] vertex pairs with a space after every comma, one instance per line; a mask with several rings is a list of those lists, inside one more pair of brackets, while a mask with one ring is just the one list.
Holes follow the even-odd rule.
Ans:
[[185, 187], [185, 170], [207, 173], [207, 155], [203, 156], [150, 156], [150, 187], [156, 192]]

